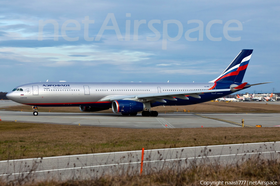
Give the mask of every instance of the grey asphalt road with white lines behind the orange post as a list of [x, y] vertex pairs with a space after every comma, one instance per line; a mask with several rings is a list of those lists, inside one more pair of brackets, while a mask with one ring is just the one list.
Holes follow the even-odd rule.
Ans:
[[[279, 159], [280, 142], [231, 144], [202, 147], [145, 150], [143, 173], [164, 167], [180, 168], [192, 163], [230, 165], [249, 157]], [[88, 179], [102, 175], [139, 174], [141, 151], [81, 154], [0, 161], [0, 179]]]

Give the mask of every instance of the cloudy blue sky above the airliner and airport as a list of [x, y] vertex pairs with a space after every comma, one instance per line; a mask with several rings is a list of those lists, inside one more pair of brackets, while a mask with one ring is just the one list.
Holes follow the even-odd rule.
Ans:
[[239, 93], [280, 92], [280, 2], [0, 2], [0, 91], [30, 82], [209, 82], [254, 49]]

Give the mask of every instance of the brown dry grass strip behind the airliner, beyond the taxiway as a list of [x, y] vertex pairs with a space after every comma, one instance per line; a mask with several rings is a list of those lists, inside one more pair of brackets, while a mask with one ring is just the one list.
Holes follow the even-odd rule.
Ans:
[[[187, 105], [187, 106], [159, 106], [152, 108], [158, 112], [176, 112], [178, 108], [179, 112], [186, 109], [190, 112], [197, 113], [280, 113], [280, 105], [277, 104], [258, 104], [248, 102], [224, 102], [224, 101], [209, 101], [201, 104]], [[21, 105], [13, 107], [2, 107], [0, 109], [33, 112], [31, 106]], [[79, 107], [38, 107], [38, 112], [81, 112]], [[96, 113], [113, 113], [112, 109], [99, 111]]]

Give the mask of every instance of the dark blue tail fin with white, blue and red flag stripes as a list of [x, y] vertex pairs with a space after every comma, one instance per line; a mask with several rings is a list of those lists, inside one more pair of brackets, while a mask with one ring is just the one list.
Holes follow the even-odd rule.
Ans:
[[218, 78], [211, 81], [211, 83], [241, 83], [246, 72], [249, 60], [251, 58], [252, 52], [252, 49], [243, 49], [231, 62], [231, 64], [225, 69], [225, 71]]

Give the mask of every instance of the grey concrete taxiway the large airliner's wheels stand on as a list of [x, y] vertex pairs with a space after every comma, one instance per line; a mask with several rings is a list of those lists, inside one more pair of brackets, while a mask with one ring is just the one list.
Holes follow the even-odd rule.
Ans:
[[[280, 113], [200, 113], [202, 116], [224, 119], [246, 125], [273, 127], [280, 125]], [[117, 128], [196, 128], [240, 127], [234, 124], [198, 117], [193, 113], [159, 113], [158, 117], [122, 116], [110, 113], [39, 113], [0, 110], [2, 121], [50, 123], [63, 125], [103, 126]]]

